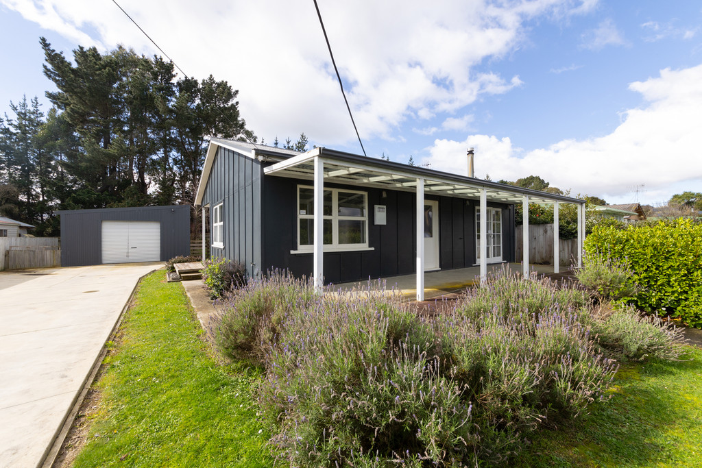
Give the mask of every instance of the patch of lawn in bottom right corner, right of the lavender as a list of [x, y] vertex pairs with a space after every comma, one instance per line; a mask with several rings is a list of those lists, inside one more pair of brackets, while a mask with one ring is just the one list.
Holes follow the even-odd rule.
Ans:
[[521, 467], [698, 467], [702, 460], [702, 350], [688, 361], [626, 363], [609, 401], [536, 434]]

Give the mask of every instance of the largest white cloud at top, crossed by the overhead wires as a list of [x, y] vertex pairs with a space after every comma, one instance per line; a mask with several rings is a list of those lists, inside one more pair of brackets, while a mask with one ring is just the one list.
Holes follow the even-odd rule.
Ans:
[[[108, 1], [0, 0], [81, 45], [158, 51]], [[311, 2], [121, 0], [188, 74], [213, 74], [240, 91], [250, 128], [272, 140], [305, 131], [315, 142], [355, 140]], [[518, 76], [477, 73], [524, 41], [524, 23], [588, 13], [595, 0], [326, 2], [320, 5], [344, 87], [364, 138], [398, 140], [407, 119], [453, 113], [507, 93]], [[65, 51], [67, 55], [69, 51]]]

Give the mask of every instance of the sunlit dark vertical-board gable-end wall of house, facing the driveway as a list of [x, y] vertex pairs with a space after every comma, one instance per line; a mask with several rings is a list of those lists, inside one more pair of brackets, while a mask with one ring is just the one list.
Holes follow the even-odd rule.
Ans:
[[261, 269], [262, 171], [256, 159], [219, 147], [202, 199], [210, 213], [223, 205], [224, 246], [212, 246], [211, 255], [243, 263], [252, 277]]

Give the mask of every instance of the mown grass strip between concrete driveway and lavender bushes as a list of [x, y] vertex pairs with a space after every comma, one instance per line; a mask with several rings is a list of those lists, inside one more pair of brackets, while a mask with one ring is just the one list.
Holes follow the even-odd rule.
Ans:
[[105, 359], [88, 443], [75, 467], [270, 467], [251, 389], [260, 375], [218, 366], [183, 286], [147, 276]]

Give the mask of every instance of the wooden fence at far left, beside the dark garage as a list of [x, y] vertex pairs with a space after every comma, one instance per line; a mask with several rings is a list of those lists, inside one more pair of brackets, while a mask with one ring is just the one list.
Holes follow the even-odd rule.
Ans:
[[61, 266], [58, 237], [0, 238], [0, 271]]

